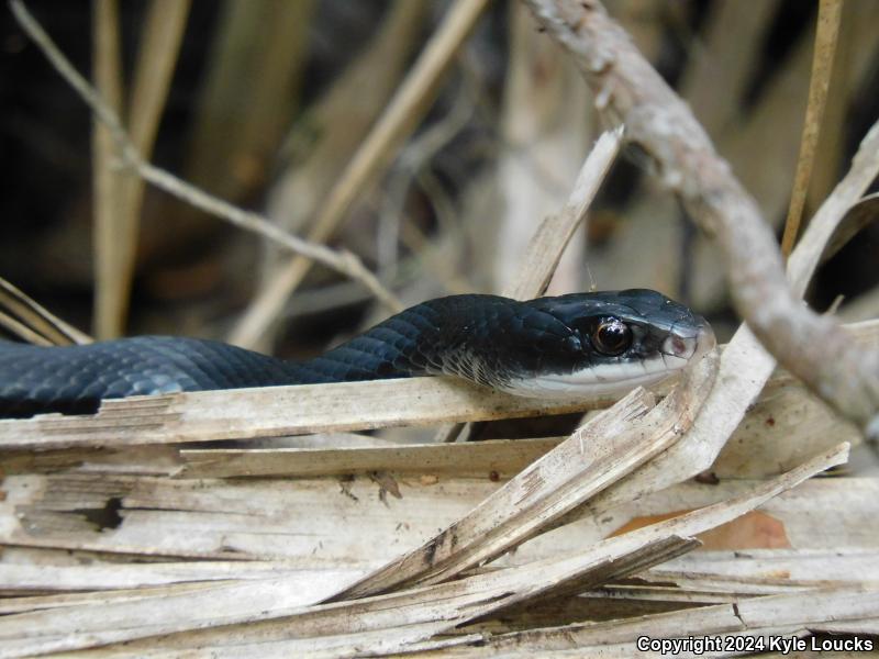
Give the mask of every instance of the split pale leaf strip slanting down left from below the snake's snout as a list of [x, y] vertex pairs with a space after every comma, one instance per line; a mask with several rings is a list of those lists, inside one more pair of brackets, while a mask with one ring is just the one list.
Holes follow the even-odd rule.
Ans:
[[713, 384], [715, 368], [715, 359], [706, 357], [655, 407], [645, 398], [646, 392], [633, 391], [469, 515], [337, 596], [376, 594], [409, 583], [437, 583], [521, 545], [671, 446], [692, 423]]

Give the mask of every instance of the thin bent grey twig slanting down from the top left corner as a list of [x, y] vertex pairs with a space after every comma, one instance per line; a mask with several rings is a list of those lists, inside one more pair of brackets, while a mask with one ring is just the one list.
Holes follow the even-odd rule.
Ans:
[[370, 272], [360, 259], [347, 250], [335, 250], [310, 241], [304, 241], [291, 235], [263, 215], [244, 211], [222, 199], [208, 194], [203, 190], [177, 178], [176, 176], [146, 163], [122, 126], [119, 115], [113, 112], [91, 85], [73, 67], [70, 62], [62, 54], [52, 38], [46, 34], [40, 23], [25, 9], [21, 0], [10, 0], [12, 13], [27, 35], [43, 51], [43, 54], [62, 75], [62, 77], [79, 93], [91, 108], [98, 119], [103, 122], [113, 135], [124, 160], [124, 165], [132, 167], [146, 181], [155, 187], [182, 199], [191, 205], [225, 220], [235, 226], [256, 233], [265, 238], [322, 264], [352, 279], [356, 279], [368, 288], [381, 302], [390, 309], [400, 310], [402, 304], [396, 295], [387, 290], [381, 282]]

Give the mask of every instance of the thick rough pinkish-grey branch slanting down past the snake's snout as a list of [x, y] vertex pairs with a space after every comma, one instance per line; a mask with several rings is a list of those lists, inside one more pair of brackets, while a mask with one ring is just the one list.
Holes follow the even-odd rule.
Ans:
[[[599, 110], [625, 123], [663, 182], [714, 236], [736, 309], [760, 342], [843, 416], [879, 435], [879, 353], [853, 345], [838, 323], [811, 312], [793, 293], [771, 230], [689, 108], [598, 0], [524, 1], [575, 58]], [[877, 136], [879, 127], [865, 144]]]

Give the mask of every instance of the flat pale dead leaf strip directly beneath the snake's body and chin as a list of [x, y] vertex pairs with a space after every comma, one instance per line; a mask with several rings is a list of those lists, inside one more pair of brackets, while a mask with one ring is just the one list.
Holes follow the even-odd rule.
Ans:
[[199, 391], [104, 401], [94, 415], [0, 421], [0, 449], [251, 439], [492, 421], [591, 410], [609, 402], [524, 399], [456, 378]]

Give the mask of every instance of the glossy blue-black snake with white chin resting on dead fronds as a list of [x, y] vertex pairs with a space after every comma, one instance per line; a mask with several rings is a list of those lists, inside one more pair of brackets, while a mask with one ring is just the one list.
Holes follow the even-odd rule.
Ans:
[[591, 395], [663, 379], [711, 346], [703, 319], [655, 291], [526, 302], [452, 295], [303, 362], [170, 336], [64, 347], [0, 342], [0, 416], [88, 413], [102, 399], [130, 395], [424, 375], [523, 395]]

